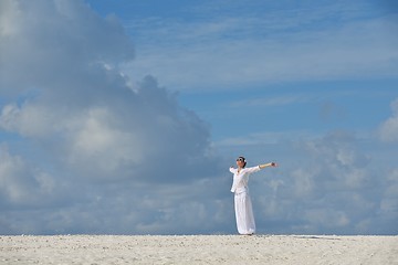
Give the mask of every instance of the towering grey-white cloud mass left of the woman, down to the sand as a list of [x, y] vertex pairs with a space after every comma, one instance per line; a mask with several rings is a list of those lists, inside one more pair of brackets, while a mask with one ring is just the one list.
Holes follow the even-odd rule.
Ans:
[[117, 18], [78, 0], [0, 12], [0, 233], [167, 233], [211, 214], [208, 125], [119, 71], [134, 46]]

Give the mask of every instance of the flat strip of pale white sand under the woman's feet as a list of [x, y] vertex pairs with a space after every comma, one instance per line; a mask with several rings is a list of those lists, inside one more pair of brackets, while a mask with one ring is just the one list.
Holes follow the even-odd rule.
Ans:
[[0, 236], [0, 264], [398, 264], [398, 236]]

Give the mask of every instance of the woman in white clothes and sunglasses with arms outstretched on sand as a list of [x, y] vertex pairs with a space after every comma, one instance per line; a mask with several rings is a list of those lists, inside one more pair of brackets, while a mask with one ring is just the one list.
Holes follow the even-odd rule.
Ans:
[[245, 168], [245, 165], [244, 157], [239, 157], [237, 159], [238, 168], [230, 168], [231, 173], [233, 173], [231, 192], [234, 192], [238, 232], [240, 234], [252, 235], [255, 232], [255, 222], [248, 189], [249, 176], [266, 167], [276, 167], [276, 163], [263, 163], [251, 168]]

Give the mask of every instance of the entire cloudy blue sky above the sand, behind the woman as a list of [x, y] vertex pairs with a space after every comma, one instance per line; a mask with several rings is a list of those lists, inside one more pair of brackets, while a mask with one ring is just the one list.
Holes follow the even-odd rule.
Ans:
[[397, 234], [394, 1], [0, 10], [1, 234]]

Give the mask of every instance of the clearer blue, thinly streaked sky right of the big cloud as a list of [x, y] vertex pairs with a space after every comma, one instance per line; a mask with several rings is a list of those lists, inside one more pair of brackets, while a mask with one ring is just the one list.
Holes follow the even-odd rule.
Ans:
[[[235, 132], [349, 125], [369, 130], [389, 108], [376, 117], [364, 113], [370, 110], [366, 106], [387, 106], [397, 95], [397, 65], [390, 59], [397, 52], [396, 9], [388, 1], [91, 6], [102, 15], [115, 13], [126, 26], [136, 46], [127, 67], [132, 75], [149, 73], [181, 92], [181, 104], [210, 121], [216, 139], [226, 138], [228, 124], [244, 117], [249, 130]], [[242, 105], [247, 112], [235, 116]], [[300, 119], [290, 116], [296, 107], [304, 115]], [[375, 120], [364, 123], [363, 116]], [[266, 127], [259, 125], [265, 120]]]

